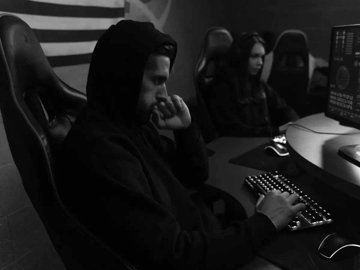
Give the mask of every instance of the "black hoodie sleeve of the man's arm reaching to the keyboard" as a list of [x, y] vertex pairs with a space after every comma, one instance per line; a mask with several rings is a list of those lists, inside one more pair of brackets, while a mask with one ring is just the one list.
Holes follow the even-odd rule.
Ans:
[[78, 184], [82, 193], [75, 196], [77, 212], [112, 249], [135, 262], [140, 258], [142, 266], [238, 269], [276, 233], [273, 223], [262, 213], [233, 222], [225, 230], [183, 230], [175, 216], [158, 203], [156, 187], [134, 154], [118, 147], [111, 157], [90, 158], [98, 166], [96, 170], [89, 168], [91, 181], [79, 181], [83, 184]]

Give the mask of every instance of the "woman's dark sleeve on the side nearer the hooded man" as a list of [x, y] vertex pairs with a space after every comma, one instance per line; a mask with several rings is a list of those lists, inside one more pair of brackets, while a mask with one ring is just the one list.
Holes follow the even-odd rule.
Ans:
[[220, 136], [233, 137], [271, 137], [279, 135], [279, 128], [256, 127], [242, 122], [234, 100], [231, 98], [231, 85], [217, 84], [210, 98], [210, 110]]

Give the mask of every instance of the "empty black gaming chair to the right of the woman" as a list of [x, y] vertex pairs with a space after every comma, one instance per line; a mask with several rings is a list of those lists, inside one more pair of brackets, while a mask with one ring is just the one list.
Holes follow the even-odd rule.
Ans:
[[[272, 57], [270, 67], [267, 67]], [[267, 83], [273, 87], [300, 117], [307, 114], [310, 89], [309, 45], [300, 30], [284, 31], [274, 49], [265, 57], [263, 73], [268, 71]]]

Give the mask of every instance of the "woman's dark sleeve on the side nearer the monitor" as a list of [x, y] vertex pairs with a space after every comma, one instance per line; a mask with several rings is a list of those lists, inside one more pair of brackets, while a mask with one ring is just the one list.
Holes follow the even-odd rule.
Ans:
[[279, 125], [284, 125], [285, 123], [294, 122], [300, 119], [298, 114], [285, 102], [278, 92], [268, 84], [265, 84], [265, 87], [267, 90], [269, 112], [275, 114], [272, 118], [279, 118]]

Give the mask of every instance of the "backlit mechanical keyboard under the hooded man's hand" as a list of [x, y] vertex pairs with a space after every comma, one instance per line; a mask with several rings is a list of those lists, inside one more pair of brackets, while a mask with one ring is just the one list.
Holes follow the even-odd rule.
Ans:
[[287, 191], [290, 194], [296, 193], [298, 195], [298, 203], [305, 204], [306, 209], [298, 213], [298, 215], [289, 222], [288, 228], [291, 231], [333, 222], [328, 211], [319, 206], [309, 196], [294, 186], [294, 184], [291, 184], [288, 179], [278, 174], [278, 172], [247, 176], [244, 184], [257, 198], [259, 198], [261, 194], [266, 195], [267, 192], [275, 189], [281, 190], [282, 192]]

